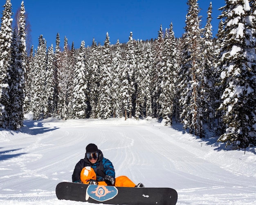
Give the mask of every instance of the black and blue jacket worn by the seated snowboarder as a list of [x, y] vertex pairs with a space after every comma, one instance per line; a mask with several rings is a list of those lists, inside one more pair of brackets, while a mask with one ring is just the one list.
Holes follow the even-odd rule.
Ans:
[[97, 181], [104, 181], [106, 175], [115, 178], [115, 169], [110, 160], [103, 157], [101, 150], [99, 150], [99, 158], [95, 164], [90, 163], [88, 158], [81, 159], [75, 166], [74, 172], [72, 174], [72, 182], [80, 180], [80, 173], [83, 167], [92, 167], [97, 175]]

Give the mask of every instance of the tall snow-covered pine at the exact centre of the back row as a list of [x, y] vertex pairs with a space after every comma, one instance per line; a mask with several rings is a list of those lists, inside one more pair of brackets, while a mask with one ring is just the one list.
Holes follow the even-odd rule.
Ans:
[[130, 118], [132, 117], [132, 95], [134, 94], [134, 83], [132, 81], [132, 77], [135, 65], [135, 56], [132, 32], [130, 32], [124, 55], [124, 65], [121, 69], [121, 96], [124, 117], [126, 119], [128, 115]]

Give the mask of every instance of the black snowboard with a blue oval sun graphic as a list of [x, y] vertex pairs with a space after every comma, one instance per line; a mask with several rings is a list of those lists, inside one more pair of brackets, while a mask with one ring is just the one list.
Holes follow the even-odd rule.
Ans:
[[175, 205], [178, 194], [171, 188], [135, 188], [61, 182], [58, 199], [112, 205]]

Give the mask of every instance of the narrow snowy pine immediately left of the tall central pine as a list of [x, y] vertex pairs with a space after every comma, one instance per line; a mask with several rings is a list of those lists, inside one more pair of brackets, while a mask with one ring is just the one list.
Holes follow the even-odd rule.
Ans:
[[116, 43], [115, 53], [112, 59], [112, 113], [113, 118], [122, 117], [121, 110], [121, 68], [123, 67], [123, 60], [121, 56], [121, 47], [119, 40]]

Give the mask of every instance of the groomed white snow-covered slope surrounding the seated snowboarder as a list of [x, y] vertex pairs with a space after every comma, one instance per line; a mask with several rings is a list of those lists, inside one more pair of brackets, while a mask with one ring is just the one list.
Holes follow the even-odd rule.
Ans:
[[177, 205], [256, 204], [256, 147], [227, 151], [214, 141], [155, 119], [26, 120], [20, 131], [0, 130], [0, 204], [91, 204], [55, 195], [88, 143], [112, 161], [116, 176], [176, 189]]

